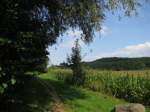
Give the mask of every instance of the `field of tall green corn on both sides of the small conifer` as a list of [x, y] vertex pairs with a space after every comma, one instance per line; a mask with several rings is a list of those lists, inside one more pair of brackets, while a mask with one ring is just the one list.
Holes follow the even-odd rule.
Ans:
[[[52, 71], [58, 80], [68, 81], [72, 77], [69, 69]], [[130, 102], [150, 105], [150, 71], [87, 70], [83, 86]]]

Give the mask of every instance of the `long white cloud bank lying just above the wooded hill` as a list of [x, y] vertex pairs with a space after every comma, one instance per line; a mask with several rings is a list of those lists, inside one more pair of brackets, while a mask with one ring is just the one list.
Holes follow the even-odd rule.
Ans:
[[150, 42], [145, 42], [137, 45], [130, 45], [124, 48], [115, 50], [111, 53], [101, 53], [92, 57], [90, 60], [95, 60], [102, 57], [148, 57], [150, 56]]

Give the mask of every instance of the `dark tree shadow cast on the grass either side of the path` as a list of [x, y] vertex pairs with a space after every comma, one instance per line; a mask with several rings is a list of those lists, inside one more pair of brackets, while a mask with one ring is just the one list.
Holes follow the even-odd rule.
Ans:
[[32, 76], [21, 78], [21, 83], [9, 88], [0, 100], [0, 112], [47, 112], [52, 106], [50, 88], [39, 81], [46, 81], [56, 88], [62, 101], [85, 98], [79, 90], [59, 81], [44, 80]]

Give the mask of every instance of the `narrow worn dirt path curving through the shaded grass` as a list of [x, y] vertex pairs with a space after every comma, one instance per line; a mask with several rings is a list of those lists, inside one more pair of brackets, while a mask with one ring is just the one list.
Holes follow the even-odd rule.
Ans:
[[48, 93], [50, 94], [50, 96], [52, 97], [52, 100], [54, 101], [52, 105], [53, 108], [51, 109], [51, 111], [52, 112], [64, 112], [64, 104], [59, 98], [55, 88], [52, 85], [48, 84], [46, 81], [39, 80], [39, 82], [41, 85], [47, 88]]

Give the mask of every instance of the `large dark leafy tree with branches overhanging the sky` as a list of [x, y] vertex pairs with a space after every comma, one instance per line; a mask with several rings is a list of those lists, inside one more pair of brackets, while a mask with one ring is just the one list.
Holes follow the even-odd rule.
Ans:
[[137, 5], [136, 0], [0, 0], [0, 86], [44, 71], [48, 45], [68, 28], [79, 28], [89, 43], [105, 10], [121, 6], [130, 15]]

